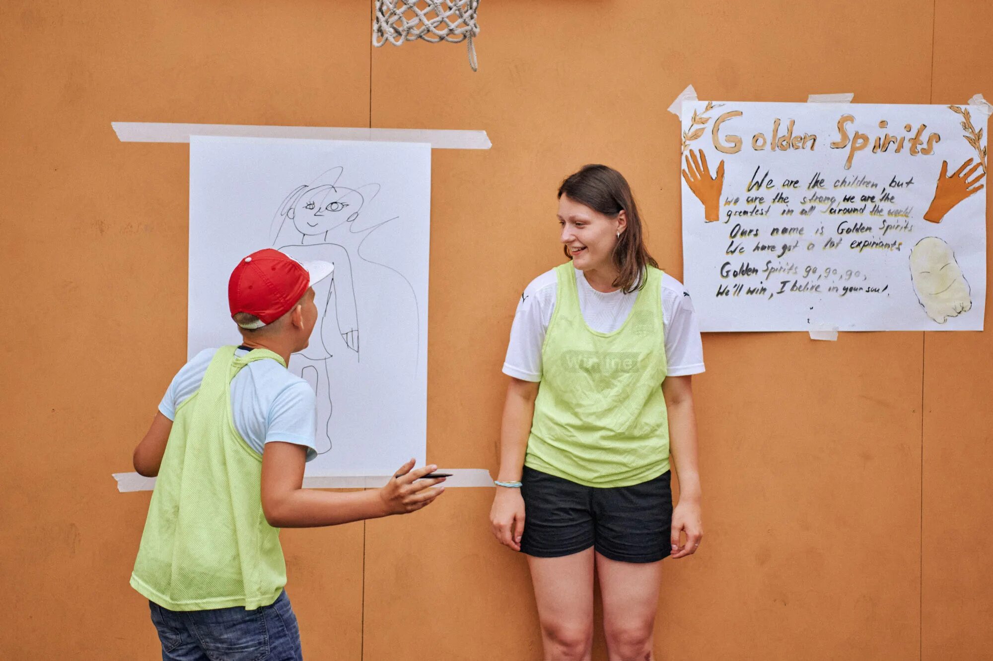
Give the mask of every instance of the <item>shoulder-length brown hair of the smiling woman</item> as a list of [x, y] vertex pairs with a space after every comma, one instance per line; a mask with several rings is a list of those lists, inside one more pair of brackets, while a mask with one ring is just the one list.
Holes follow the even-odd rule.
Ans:
[[[624, 176], [604, 165], [585, 165], [562, 182], [558, 197], [562, 196], [612, 218], [625, 211], [628, 226], [614, 246], [614, 265], [618, 268], [618, 277], [613, 285], [625, 294], [644, 287], [647, 279], [642, 278], [641, 274], [645, 266], [658, 268], [658, 263], [644, 247], [644, 229], [638, 215], [638, 205]], [[566, 257], [572, 259], [568, 246], [563, 246], [563, 251]]]

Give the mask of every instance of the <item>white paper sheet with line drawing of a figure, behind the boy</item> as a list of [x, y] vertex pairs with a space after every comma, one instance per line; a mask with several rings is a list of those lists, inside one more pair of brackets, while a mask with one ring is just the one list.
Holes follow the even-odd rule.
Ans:
[[188, 353], [237, 343], [227, 279], [261, 248], [335, 264], [289, 368], [317, 393], [309, 475], [387, 475], [424, 462], [427, 144], [193, 137]]

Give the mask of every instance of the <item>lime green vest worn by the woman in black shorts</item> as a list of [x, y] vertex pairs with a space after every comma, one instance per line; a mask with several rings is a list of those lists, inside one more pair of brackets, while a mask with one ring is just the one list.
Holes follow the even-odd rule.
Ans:
[[647, 268], [635, 307], [613, 332], [587, 326], [572, 263], [555, 272], [524, 465], [587, 486], [657, 477], [669, 468], [662, 272]]

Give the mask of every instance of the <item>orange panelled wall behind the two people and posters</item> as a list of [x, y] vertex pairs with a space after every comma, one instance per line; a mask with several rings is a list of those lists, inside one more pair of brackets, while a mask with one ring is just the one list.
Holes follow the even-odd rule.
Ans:
[[[463, 46], [369, 46], [366, 0], [0, 4], [3, 659], [155, 658], [127, 586], [149, 494], [118, 494], [186, 352], [188, 149], [112, 120], [486, 129], [433, 154], [428, 455], [497, 467], [521, 288], [558, 262], [554, 192], [630, 179], [682, 275], [678, 125], [701, 97], [993, 98], [993, 7], [962, 0], [488, 0]], [[990, 333], [708, 334], [707, 539], [667, 561], [661, 658], [983, 658], [993, 644]], [[313, 659], [539, 658], [489, 489], [283, 534]], [[605, 659], [598, 634], [595, 658]]]

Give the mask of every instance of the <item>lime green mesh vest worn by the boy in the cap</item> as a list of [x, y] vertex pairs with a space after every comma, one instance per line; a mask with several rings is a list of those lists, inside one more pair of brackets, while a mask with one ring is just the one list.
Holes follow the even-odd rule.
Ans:
[[217, 349], [200, 389], [176, 410], [131, 587], [171, 610], [244, 606], [276, 600], [286, 585], [279, 530], [262, 513], [262, 458], [231, 418], [231, 379], [255, 360]]

